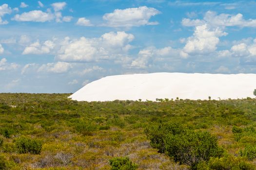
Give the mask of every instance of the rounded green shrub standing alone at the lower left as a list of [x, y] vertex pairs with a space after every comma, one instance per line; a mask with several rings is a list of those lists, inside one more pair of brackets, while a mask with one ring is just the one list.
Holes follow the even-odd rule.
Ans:
[[22, 136], [15, 140], [15, 147], [18, 153], [39, 154], [42, 149], [42, 142]]

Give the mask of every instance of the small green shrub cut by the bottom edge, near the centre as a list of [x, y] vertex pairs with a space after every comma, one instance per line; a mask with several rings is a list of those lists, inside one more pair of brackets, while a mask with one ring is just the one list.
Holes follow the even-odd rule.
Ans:
[[138, 165], [134, 164], [128, 157], [114, 157], [109, 160], [111, 170], [137, 170]]

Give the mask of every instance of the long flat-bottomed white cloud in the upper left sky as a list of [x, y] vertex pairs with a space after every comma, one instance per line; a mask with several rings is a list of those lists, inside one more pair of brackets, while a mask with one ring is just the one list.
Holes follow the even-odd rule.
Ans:
[[45, 22], [54, 19], [54, 15], [51, 13], [45, 13], [40, 10], [34, 10], [30, 12], [24, 12], [21, 15], [15, 15], [12, 20], [16, 21], [34, 21], [34, 22]]

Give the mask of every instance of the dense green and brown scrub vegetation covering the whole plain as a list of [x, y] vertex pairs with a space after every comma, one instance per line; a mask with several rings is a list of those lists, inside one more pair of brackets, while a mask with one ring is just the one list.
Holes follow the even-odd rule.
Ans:
[[256, 99], [69, 95], [0, 94], [0, 170], [256, 169]]

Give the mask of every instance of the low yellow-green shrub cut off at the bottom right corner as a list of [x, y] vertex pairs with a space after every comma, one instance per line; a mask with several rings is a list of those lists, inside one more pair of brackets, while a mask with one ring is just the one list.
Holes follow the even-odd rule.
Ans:
[[211, 158], [208, 165], [211, 170], [255, 170], [254, 166], [246, 162], [242, 157], [232, 155]]

